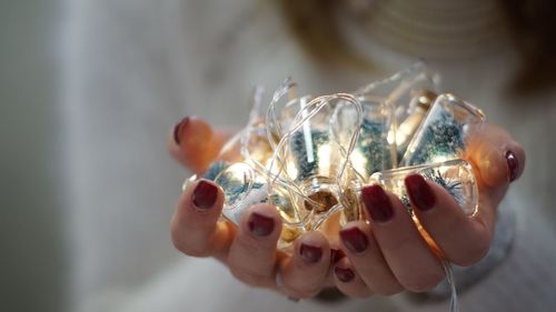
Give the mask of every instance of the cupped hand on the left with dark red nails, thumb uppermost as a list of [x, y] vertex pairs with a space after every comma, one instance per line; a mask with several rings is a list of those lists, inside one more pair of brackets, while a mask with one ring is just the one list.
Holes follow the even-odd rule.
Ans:
[[[186, 118], [170, 133], [168, 148], [179, 162], [202, 173], [229, 137], [230, 132], [215, 131], [200, 119]], [[171, 220], [176, 248], [192, 256], [214, 256], [238, 280], [296, 299], [314, 296], [332, 285], [330, 245], [320, 232], [298, 238], [294, 254], [287, 255], [276, 249], [281, 232], [276, 208], [254, 205], [235, 227], [219, 220], [222, 203], [222, 191], [214, 182], [201, 179], [189, 185]]]

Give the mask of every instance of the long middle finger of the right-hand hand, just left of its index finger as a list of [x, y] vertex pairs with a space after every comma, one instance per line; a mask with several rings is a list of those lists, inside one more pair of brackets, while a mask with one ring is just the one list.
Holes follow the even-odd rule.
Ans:
[[399, 199], [379, 185], [364, 188], [361, 199], [375, 239], [398, 282], [414, 292], [436, 286], [445, 275], [443, 265]]

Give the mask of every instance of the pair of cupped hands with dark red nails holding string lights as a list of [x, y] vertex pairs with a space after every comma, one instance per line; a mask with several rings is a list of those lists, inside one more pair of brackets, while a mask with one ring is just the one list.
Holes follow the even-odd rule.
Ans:
[[[171, 131], [168, 149], [181, 164], [202, 173], [231, 134], [199, 118], [186, 118]], [[471, 265], [488, 251], [497, 207], [509, 183], [522, 175], [525, 152], [504, 129], [485, 123], [471, 135], [466, 159], [479, 188], [479, 208], [473, 217], [441, 187], [420, 175], [406, 178], [417, 218], [443, 255], [458, 265]], [[179, 198], [171, 238], [187, 255], [214, 256], [238, 280], [296, 299], [311, 298], [326, 286], [366, 298], [437, 285], [445, 276], [441, 262], [400, 200], [378, 185], [365, 188], [361, 199], [366, 220], [346, 224], [338, 238], [307, 232], [295, 241], [295, 252], [286, 254], [276, 249], [281, 220], [274, 207], [251, 207], [236, 227], [219, 219], [221, 190], [199, 180]]]

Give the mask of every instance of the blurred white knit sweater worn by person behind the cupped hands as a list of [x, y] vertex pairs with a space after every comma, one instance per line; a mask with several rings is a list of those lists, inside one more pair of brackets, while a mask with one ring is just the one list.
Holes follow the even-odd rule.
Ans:
[[[348, 91], [420, 57], [366, 37], [358, 44], [377, 69], [330, 72], [301, 53], [265, 3], [69, 4], [64, 127], [72, 311], [447, 311], [446, 302], [406, 295], [296, 304], [241, 285], [216, 261], [186, 258], [171, 246], [168, 223], [189, 173], [167, 157], [165, 139], [182, 115], [240, 127], [255, 83], [274, 88], [294, 76], [307, 92]], [[461, 295], [460, 311], [556, 311], [556, 97], [505, 97], [517, 58], [504, 47], [428, 60], [441, 73], [444, 90], [481, 107], [528, 152], [526, 172], [506, 199], [518, 212], [513, 252]]]

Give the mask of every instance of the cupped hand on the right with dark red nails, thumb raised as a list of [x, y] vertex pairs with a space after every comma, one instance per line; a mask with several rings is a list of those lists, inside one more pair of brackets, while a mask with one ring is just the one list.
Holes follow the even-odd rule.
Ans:
[[[485, 124], [471, 137], [467, 160], [475, 165], [479, 208], [467, 217], [441, 187], [420, 175], [406, 178], [414, 211], [423, 228], [450, 262], [470, 265], [488, 251], [496, 211], [509, 182], [524, 170], [525, 152], [503, 129]], [[405, 207], [378, 185], [361, 192], [368, 222], [357, 221], [340, 231], [347, 258], [335, 266], [344, 293], [423, 292], [444, 279], [439, 258], [429, 248]]]

